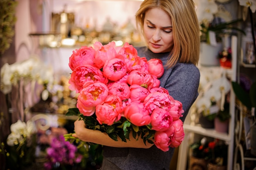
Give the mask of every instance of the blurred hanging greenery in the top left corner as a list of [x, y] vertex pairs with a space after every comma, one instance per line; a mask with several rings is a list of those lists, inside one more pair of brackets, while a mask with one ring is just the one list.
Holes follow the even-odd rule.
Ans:
[[0, 55], [9, 49], [14, 36], [16, 22], [15, 7], [18, 2], [14, 0], [0, 0]]

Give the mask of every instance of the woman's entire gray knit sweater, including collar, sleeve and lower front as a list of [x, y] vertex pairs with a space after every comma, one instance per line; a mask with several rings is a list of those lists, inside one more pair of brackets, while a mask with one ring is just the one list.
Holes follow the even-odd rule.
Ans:
[[[169, 53], [155, 54], [147, 47], [138, 47], [138, 55], [159, 58], [165, 65]], [[184, 114], [180, 119], [184, 121], [189, 108], [198, 96], [200, 72], [193, 64], [177, 63], [174, 67], [164, 70], [159, 78], [161, 87], [168, 89], [175, 100], [182, 102]], [[163, 152], [153, 145], [149, 149], [142, 148], [113, 148], [104, 146], [103, 165], [101, 170], [169, 170], [174, 148]]]

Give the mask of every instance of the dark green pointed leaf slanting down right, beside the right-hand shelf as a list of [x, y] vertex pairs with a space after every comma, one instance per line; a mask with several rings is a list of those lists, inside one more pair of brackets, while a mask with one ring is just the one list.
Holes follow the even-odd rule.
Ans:
[[234, 93], [236, 94], [236, 97], [238, 100], [245, 105], [249, 110], [252, 108], [252, 104], [250, 101], [250, 96], [243, 87], [241, 87], [237, 82], [232, 81], [232, 88], [234, 89]]

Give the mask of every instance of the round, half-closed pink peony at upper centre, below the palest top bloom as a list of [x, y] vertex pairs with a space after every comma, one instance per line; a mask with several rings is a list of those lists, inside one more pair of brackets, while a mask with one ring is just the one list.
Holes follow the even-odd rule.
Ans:
[[106, 61], [103, 67], [103, 75], [111, 81], [117, 81], [126, 75], [127, 65], [119, 58]]

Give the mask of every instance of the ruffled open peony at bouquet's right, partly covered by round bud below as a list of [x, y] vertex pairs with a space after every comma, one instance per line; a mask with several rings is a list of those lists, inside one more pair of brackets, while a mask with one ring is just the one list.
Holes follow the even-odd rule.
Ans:
[[155, 108], [163, 108], [168, 111], [174, 104], [175, 101], [173, 97], [160, 92], [150, 93], [144, 99], [144, 105], [150, 114]]

